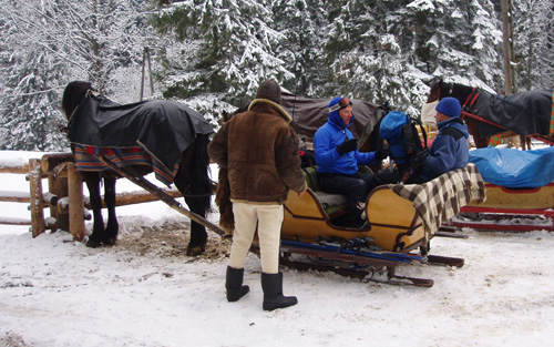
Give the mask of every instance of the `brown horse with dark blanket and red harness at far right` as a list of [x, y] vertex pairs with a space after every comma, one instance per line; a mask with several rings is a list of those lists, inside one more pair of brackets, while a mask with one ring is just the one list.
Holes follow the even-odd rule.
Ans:
[[463, 108], [462, 119], [468, 124], [468, 131], [478, 149], [486, 147], [491, 136], [506, 131], [520, 135], [522, 147], [530, 149], [530, 137], [554, 144], [554, 135], [550, 130], [554, 101], [552, 91], [496, 95], [476, 88], [439, 80], [431, 85], [427, 103], [445, 96], [460, 101]]

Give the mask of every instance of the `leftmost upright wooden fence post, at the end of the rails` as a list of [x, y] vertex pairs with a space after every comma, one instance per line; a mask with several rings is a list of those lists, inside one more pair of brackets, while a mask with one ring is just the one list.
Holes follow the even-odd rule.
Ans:
[[42, 173], [40, 160], [29, 160], [29, 186], [31, 198], [31, 228], [33, 237], [39, 236], [47, 229], [44, 225], [44, 203], [42, 197]]

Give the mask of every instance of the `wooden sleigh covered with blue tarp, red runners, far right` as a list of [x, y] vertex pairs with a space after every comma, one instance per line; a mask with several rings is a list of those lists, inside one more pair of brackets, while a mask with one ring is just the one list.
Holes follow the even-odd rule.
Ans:
[[[482, 156], [473, 154], [480, 152]], [[489, 147], [470, 154], [470, 157], [480, 159], [476, 165], [484, 180], [490, 181], [485, 182], [486, 202], [462, 207], [451, 225], [504, 232], [554, 229], [552, 147], [524, 152]], [[503, 164], [496, 169], [496, 163]], [[503, 185], [503, 182], [513, 187]]]

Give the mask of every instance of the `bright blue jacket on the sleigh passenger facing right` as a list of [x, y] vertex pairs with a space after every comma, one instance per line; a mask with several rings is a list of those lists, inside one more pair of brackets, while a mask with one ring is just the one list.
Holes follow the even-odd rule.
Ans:
[[[353, 116], [348, 126], [352, 123]], [[353, 139], [352, 133], [347, 129], [338, 112], [331, 112], [327, 123], [319, 127], [314, 135], [318, 172], [353, 175], [358, 172], [358, 165], [370, 165], [376, 161], [373, 152], [361, 153], [356, 150], [340, 155], [337, 152], [337, 146], [347, 139]]]

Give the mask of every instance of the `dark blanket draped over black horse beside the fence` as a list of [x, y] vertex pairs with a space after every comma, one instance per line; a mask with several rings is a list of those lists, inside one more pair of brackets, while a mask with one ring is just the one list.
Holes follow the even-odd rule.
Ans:
[[[73, 144], [124, 154], [140, 147], [155, 159], [154, 166], [162, 165], [167, 172], [175, 172], [182, 153], [197, 134], [213, 132], [199, 113], [167, 100], [117, 104], [103, 95], [91, 95], [81, 101], [69, 122]], [[95, 153], [89, 150], [83, 154]]]

